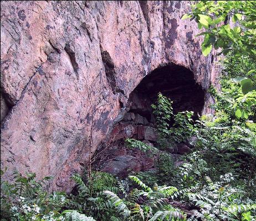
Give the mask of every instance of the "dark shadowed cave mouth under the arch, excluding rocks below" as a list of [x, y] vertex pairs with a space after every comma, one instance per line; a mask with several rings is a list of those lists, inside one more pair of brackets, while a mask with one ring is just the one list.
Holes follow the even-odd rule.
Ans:
[[128, 103], [130, 110], [123, 120], [132, 120], [131, 117], [135, 115], [135, 123], [153, 126], [155, 121], [151, 104], [156, 103], [159, 92], [173, 101], [172, 108], [175, 114], [193, 111], [194, 117], [197, 117], [197, 113], [202, 113], [205, 92], [194, 80], [193, 72], [186, 67], [169, 64], [152, 71], [132, 91]]

